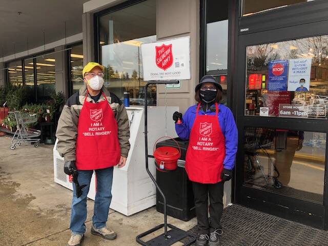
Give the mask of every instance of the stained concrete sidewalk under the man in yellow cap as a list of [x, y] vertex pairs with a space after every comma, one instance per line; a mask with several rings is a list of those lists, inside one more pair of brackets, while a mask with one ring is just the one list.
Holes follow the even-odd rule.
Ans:
[[[0, 137], [0, 245], [66, 245], [72, 192], [54, 182], [53, 146], [9, 147], [10, 139]], [[139, 245], [136, 235], [163, 222], [154, 207], [129, 217], [111, 210], [108, 226], [118, 237], [105, 241], [90, 234], [93, 203], [88, 200], [83, 245]], [[168, 221], [183, 230], [196, 224], [195, 218], [184, 222], [169, 217]]]

